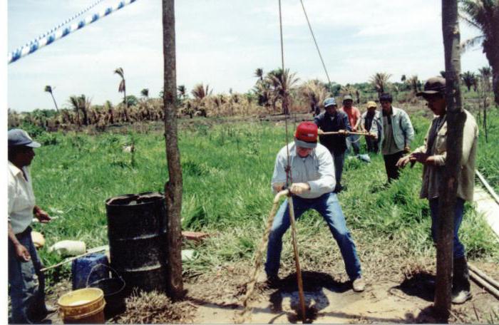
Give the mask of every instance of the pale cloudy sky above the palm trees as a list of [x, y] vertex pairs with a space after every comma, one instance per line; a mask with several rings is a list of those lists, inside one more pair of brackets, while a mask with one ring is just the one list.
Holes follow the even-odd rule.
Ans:
[[[6, 51], [14, 51], [96, 0], [10, 0]], [[331, 81], [361, 83], [377, 72], [390, 81], [444, 70], [441, 1], [303, 0]], [[117, 3], [103, 0], [75, 21]], [[256, 68], [281, 66], [277, 0], [175, 1], [177, 84], [197, 83], [214, 93], [246, 92]], [[327, 81], [299, 0], [282, 0], [284, 66], [301, 82]], [[461, 22], [461, 40], [480, 32]], [[6, 66], [8, 108], [53, 108], [43, 91], [53, 88], [59, 107], [85, 94], [93, 104], [118, 103], [125, 72], [127, 94], [163, 88], [160, 0], [137, 0], [113, 14]], [[6, 52], [4, 52], [6, 53]], [[488, 66], [481, 48], [461, 57], [462, 71]], [[3, 75], [3, 73], [2, 73]]]

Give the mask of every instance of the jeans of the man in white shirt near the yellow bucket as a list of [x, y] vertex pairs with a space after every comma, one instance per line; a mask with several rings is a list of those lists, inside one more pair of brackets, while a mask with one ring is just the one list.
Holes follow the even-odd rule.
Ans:
[[9, 323], [31, 324], [38, 315], [46, 314], [45, 277], [36, 248], [31, 240], [31, 231], [17, 238], [28, 249], [31, 259], [21, 262], [16, 257], [14, 245], [9, 240], [9, 285], [11, 317]]

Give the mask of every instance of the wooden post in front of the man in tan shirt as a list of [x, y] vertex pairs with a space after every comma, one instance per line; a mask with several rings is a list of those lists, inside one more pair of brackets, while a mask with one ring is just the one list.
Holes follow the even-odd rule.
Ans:
[[442, 321], [448, 320], [451, 311], [454, 210], [461, 172], [463, 127], [466, 115], [461, 109], [459, 75], [460, 33], [458, 0], [442, 0], [443, 47], [446, 61], [447, 103], [447, 158], [443, 180], [439, 184], [437, 225], [437, 279], [434, 306]]

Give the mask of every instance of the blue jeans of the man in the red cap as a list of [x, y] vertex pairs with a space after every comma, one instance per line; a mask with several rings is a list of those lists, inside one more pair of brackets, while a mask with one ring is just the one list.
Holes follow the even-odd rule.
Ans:
[[[346, 228], [345, 217], [341, 211], [336, 194], [330, 192], [316, 199], [303, 199], [293, 197], [294, 217], [296, 220], [307, 210], [314, 209], [319, 212], [331, 230], [334, 239], [338, 243], [341, 256], [345, 263], [346, 274], [351, 280], [361, 276], [361, 262], [357, 257], [354, 240], [351, 239], [349, 229]], [[272, 229], [269, 234], [267, 247], [267, 262], [265, 272], [267, 276], [277, 275], [282, 251], [282, 236], [289, 228], [289, 208], [287, 200], [284, 200], [277, 212]]]

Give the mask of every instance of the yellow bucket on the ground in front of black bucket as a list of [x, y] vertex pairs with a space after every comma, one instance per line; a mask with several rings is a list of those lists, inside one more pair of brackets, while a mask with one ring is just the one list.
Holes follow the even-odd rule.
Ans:
[[64, 324], [104, 324], [104, 292], [98, 288], [78, 289], [58, 299]]

